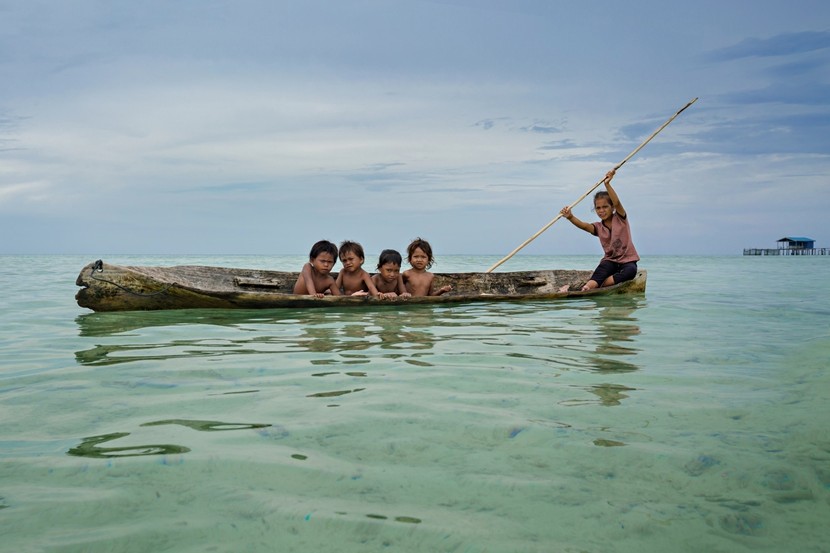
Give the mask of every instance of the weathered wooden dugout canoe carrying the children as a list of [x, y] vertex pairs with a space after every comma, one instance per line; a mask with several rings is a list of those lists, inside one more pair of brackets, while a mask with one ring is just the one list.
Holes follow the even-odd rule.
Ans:
[[[356, 307], [392, 303], [452, 304], [468, 302], [558, 300], [603, 294], [643, 293], [646, 271], [634, 280], [580, 292], [591, 271], [545, 270], [505, 273], [435, 273], [441, 296], [381, 300], [369, 296], [316, 298], [292, 293], [299, 273], [204, 265], [175, 267], [120, 266], [101, 260], [81, 269], [75, 284], [78, 305], [93, 311], [156, 309], [273, 309], [280, 307]], [[559, 292], [568, 285], [571, 290]]]

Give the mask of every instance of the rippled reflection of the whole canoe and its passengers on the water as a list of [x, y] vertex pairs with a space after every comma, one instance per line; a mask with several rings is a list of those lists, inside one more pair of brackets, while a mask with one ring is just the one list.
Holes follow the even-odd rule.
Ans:
[[[582, 370], [611, 376], [639, 370], [633, 362], [639, 353], [634, 345], [640, 333], [636, 314], [644, 305], [639, 296], [609, 296], [449, 308], [92, 313], [76, 322], [82, 336], [100, 338], [101, 343], [77, 351], [75, 357], [82, 365], [106, 366], [226, 356], [238, 361], [249, 354], [272, 354], [286, 356], [286, 366], [331, 368], [312, 376], [367, 378], [366, 370], [342, 368], [399, 360], [431, 369], [464, 355], [465, 365], [475, 365], [475, 357], [480, 356], [482, 367], [538, 366], [543, 371]], [[303, 396], [332, 398], [366, 389], [332, 388]], [[604, 406], [619, 405], [634, 391], [614, 381], [583, 389]], [[559, 403], [596, 401], [582, 397]]]

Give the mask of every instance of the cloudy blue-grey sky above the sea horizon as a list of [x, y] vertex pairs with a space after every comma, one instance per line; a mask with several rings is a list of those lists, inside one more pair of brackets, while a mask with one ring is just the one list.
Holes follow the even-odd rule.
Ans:
[[830, 247], [826, 0], [0, 0], [0, 254], [507, 254], [694, 98], [641, 257]]

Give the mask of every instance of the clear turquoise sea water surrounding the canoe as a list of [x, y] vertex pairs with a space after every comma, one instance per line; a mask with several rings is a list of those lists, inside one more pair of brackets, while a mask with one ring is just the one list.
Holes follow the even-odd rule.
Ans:
[[647, 257], [634, 297], [103, 314], [74, 302], [95, 256], [0, 259], [4, 551], [830, 550], [830, 257]]

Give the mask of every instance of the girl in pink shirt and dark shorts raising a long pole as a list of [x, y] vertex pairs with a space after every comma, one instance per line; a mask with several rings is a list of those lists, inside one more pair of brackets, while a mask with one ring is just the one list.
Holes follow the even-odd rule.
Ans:
[[611, 179], [616, 171], [608, 171], [605, 175], [605, 191], [597, 192], [594, 195], [594, 211], [600, 218], [599, 222], [586, 223], [580, 221], [571, 213], [568, 206], [562, 208], [562, 216], [568, 221], [594, 236], [599, 237], [599, 242], [605, 252], [605, 256], [594, 270], [590, 280], [582, 291], [593, 290], [599, 286], [611, 286], [626, 280], [631, 280], [637, 275], [637, 262], [640, 256], [631, 241], [631, 230], [628, 226], [628, 216], [625, 208], [620, 202], [619, 196], [611, 186]]

